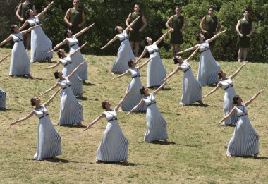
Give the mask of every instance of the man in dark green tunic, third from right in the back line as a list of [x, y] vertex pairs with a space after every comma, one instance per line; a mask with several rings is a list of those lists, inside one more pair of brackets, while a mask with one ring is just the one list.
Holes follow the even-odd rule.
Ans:
[[[188, 23], [183, 16], [181, 16], [181, 8], [176, 6], [175, 15], [171, 16], [166, 22], [166, 27], [171, 30], [171, 51], [172, 59], [176, 56], [176, 53], [180, 51], [180, 44], [183, 43], [183, 31], [187, 29]], [[171, 26], [169, 25], [171, 23]], [[184, 30], [183, 30], [184, 25]]]

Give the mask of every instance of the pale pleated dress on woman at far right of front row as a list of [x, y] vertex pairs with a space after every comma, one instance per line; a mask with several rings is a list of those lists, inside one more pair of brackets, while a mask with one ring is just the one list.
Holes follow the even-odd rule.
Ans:
[[259, 153], [259, 135], [248, 118], [248, 109], [245, 104], [236, 106], [238, 121], [229, 141], [226, 154], [231, 156], [249, 156]]

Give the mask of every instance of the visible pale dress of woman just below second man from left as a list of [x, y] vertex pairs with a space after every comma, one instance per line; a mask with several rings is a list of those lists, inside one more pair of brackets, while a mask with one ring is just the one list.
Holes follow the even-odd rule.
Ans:
[[[75, 51], [76, 49], [78, 49], [78, 44], [75, 44], [74, 46], [70, 47], [70, 51], [69, 54], [72, 54], [73, 51]], [[83, 58], [82, 54], [80, 51], [78, 51], [75, 55], [73, 55], [71, 57], [72, 61], [73, 61], [73, 68], [78, 67], [78, 65], [80, 65], [80, 63], [83, 63], [83, 61], [85, 61], [85, 59]], [[83, 66], [81, 66], [78, 71], [76, 72], [77, 75], [82, 79], [82, 80], [87, 80], [87, 68], [88, 65], [87, 63], [83, 64]]]

